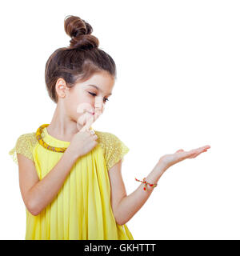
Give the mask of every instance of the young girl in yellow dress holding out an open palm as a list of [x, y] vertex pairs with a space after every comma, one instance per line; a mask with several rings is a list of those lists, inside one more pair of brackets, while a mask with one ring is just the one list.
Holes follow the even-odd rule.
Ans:
[[121, 167], [129, 148], [91, 124], [102, 114], [116, 78], [113, 58], [98, 48], [92, 27], [76, 16], [64, 22], [70, 46], [46, 62], [46, 88], [57, 104], [50, 124], [19, 136], [10, 155], [18, 164], [26, 205], [26, 239], [133, 240], [126, 226], [170, 166], [210, 146], [159, 159], [130, 195]]

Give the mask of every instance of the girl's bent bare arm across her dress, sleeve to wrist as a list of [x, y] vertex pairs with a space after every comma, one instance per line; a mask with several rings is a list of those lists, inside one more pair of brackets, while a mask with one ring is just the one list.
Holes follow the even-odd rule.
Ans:
[[58, 194], [77, 157], [66, 150], [62, 158], [41, 181], [34, 162], [17, 154], [19, 185], [23, 201], [30, 214], [38, 215]]

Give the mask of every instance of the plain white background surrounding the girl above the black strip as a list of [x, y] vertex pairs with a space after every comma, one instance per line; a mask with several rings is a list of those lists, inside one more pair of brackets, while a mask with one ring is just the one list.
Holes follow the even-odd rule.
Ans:
[[239, 1], [5, 1], [1, 19], [0, 238], [24, 239], [18, 166], [21, 134], [50, 123], [47, 58], [69, 46], [66, 15], [89, 22], [117, 65], [95, 130], [130, 148], [127, 194], [163, 154], [211, 148], [171, 166], [126, 223], [134, 239], [239, 239]]

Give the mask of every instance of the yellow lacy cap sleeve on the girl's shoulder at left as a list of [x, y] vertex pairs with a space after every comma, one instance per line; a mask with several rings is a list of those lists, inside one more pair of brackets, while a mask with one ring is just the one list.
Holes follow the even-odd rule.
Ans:
[[17, 154], [23, 154], [26, 158], [34, 161], [32, 151], [37, 142], [38, 140], [35, 132], [21, 134], [17, 138], [15, 146], [9, 151], [9, 154], [14, 162], [18, 165]]

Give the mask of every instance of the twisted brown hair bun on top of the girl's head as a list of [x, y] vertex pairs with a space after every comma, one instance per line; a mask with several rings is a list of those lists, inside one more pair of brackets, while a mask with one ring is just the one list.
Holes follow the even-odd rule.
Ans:
[[91, 34], [92, 26], [78, 16], [66, 16], [64, 30], [71, 38], [70, 49], [91, 50], [99, 46], [98, 38]]

